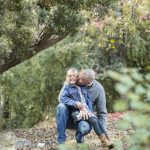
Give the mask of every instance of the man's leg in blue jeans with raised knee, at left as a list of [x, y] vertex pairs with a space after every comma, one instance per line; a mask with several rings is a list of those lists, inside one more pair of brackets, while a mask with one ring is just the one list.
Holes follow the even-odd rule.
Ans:
[[66, 140], [66, 124], [69, 114], [69, 108], [65, 104], [59, 103], [56, 108], [57, 142], [59, 144]]

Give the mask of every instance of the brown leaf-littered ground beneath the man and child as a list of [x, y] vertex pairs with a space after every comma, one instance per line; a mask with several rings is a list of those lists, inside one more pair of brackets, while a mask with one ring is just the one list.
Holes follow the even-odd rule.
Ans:
[[[122, 149], [126, 150], [127, 144], [125, 142], [125, 137], [132, 134], [133, 130], [128, 129], [123, 131], [117, 127], [117, 122], [122, 119], [124, 114], [125, 113], [110, 113], [108, 115], [108, 133], [113, 141], [122, 140]], [[15, 129], [11, 132], [16, 137], [14, 148], [16, 150], [58, 149], [56, 144], [56, 125], [54, 120], [40, 122], [30, 129]], [[67, 142], [65, 147], [62, 147], [61, 150], [104, 150], [94, 131], [85, 137], [85, 145], [77, 145], [74, 134], [74, 131], [67, 130]], [[9, 150], [9, 148], [7, 149]]]

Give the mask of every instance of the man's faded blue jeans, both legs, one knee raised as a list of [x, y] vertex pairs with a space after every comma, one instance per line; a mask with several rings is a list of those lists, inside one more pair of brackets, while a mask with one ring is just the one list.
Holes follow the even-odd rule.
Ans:
[[57, 142], [64, 143], [66, 140], [66, 129], [76, 130], [77, 143], [84, 142], [84, 136], [87, 135], [92, 127], [87, 121], [75, 123], [71, 117], [71, 112], [68, 106], [59, 103], [56, 108], [56, 124], [57, 124]]

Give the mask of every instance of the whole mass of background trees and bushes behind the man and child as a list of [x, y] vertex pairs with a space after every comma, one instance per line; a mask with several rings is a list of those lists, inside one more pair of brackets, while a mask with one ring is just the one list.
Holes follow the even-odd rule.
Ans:
[[2, 127], [32, 126], [52, 115], [67, 67], [97, 72], [109, 111], [119, 94], [107, 71], [149, 68], [147, 0], [14, 0], [0, 6], [0, 72], [24, 61], [0, 76]]

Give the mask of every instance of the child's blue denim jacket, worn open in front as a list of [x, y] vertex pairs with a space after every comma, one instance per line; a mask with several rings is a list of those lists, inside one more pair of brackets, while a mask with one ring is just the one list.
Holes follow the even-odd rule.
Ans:
[[[85, 98], [85, 103], [87, 104], [90, 111], [93, 111], [92, 100], [88, 94], [87, 87], [80, 86], [80, 88]], [[61, 94], [60, 100], [62, 103], [75, 108], [76, 103], [80, 102], [80, 94], [76, 85], [72, 85], [72, 84], [64, 85], [64, 90], [63, 93]]]

